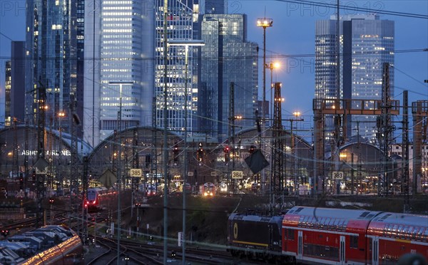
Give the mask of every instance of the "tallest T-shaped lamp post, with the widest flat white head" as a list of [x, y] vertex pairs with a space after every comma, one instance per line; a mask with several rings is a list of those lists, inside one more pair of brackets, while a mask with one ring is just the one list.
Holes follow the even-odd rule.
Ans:
[[204, 46], [200, 40], [170, 40], [168, 46], [184, 46], [185, 48], [185, 76], [184, 76], [184, 173], [183, 173], [183, 265], [185, 264], [185, 187], [187, 182], [187, 135], [188, 135], [188, 50], [189, 46]]

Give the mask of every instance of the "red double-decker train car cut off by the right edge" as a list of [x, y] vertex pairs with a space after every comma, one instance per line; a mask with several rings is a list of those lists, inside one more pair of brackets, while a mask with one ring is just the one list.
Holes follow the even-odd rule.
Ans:
[[368, 257], [373, 265], [397, 264], [406, 254], [428, 260], [428, 217], [415, 214], [382, 213], [367, 229]]

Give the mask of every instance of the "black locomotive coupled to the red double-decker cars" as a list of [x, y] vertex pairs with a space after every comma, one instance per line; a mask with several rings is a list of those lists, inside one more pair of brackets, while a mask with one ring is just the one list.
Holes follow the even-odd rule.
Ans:
[[233, 256], [276, 259], [281, 251], [282, 216], [260, 217], [230, 214], [228, 219], [229, 251]]

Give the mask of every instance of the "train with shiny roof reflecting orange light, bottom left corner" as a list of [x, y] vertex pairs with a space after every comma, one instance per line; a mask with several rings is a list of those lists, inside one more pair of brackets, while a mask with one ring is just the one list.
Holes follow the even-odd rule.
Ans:
[[84, 264], [83, 245], [67, 227], [41, 227], [0, 241], [0, 264]]

